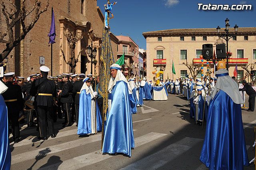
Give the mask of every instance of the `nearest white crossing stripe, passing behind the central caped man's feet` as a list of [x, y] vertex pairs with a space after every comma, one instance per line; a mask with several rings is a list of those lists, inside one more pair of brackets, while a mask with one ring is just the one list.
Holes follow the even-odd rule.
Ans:
[[[140, 136], [138, 138], [135, 138], [134, 139], [135, 149], [139, 146], [142, 146], [143, 144], [147, 144], [149, 142], [152, 142], [153, 140], [156, 140], [156, 139], [161, 138], [166, 135], [167, 134], [151, 132], [151, 133], [145, 134], [143, 136]], [[41, 168], [40, 170], [49, 170], [49, 169], [76, 170], [79, 168], [83, 168], [84, 166], [89, 166], [91, 164], [95, 164], [102, 160], [106, 160], [108, 158], [112, 158], [112, 156], [110, 156], [108, 154], [103, 155], [101, 150], [97, 150], [95, 152], [77, 156], [77, 157], [69, 159], [69, 160], [64, 160], [62, 162], [62, 164], [59, 164], [59, 163], [52, 164], [50, 166]]]

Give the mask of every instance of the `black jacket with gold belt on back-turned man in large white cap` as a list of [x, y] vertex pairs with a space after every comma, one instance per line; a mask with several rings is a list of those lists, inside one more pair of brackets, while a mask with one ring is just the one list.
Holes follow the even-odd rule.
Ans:
[[30, 95], [35, 96], [33, 103], [35, 106], [53, 106], [53, 97], [56, 97], [55, 82], [46, 76], [34, 80]]

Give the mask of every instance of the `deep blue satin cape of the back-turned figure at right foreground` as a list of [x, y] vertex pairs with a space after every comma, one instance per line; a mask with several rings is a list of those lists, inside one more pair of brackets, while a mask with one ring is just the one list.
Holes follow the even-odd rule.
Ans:
[[240, 104], [222, 90], [210, 102], [200, 160], [209, 170], [249, 166]]

